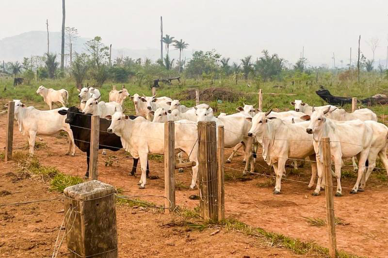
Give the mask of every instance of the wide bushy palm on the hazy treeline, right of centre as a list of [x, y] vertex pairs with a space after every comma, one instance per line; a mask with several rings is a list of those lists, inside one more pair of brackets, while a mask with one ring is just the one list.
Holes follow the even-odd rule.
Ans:
[[[274, 76], [279, 76], [284, 68], [284, 59], [277, 54], [270, 55], [268, 50], [263, 50], [263, 56], [255, 63], [256, 72], [266, 81]], [[303, 61], [300, 63], [303, 66]]]

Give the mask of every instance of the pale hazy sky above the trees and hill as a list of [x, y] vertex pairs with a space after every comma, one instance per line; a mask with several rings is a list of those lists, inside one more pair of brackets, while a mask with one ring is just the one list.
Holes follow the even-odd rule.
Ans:
[[[0, 39], [30, 30], [61, 30], [62, 0], [1, 0]], [[182, 38], [187, 50], [211, 48], [232, 59], [263, 49], [294, 63], [305, 46], [311, 64], [355, 60], [361, 51], [372, 59], [366, 41], [380, 39], [375, 60], [385, 59], [388, 0], [66, 0], [66, 26], [82, 37], [100, 35], [114, 48], [160, 47], [163, 34]], [[5, 25], [5, 26], [4, 26]]]

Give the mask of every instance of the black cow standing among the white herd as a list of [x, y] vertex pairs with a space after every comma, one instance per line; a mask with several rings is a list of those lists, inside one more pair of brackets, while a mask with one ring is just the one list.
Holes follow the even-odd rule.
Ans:
[[[74, 143], [82, 151], [86, 152], [86, 161], [88, 164], [85, 177], [89, 177], [89, 156], [90, 156], [90, 127], [92, 123], [92, 114], [83, 114], [76, 106], [71, 106], [66, 110], [59, 110], [58, 113], [66, 117], [65, 122], [70, 124], [70, 129], [74, 135]], [[135, 116], [129, 116], [130, 119], [135, 119]], [[100, 132], [98, 139], [98, 150], [107, 149], [116, 152], [123, 148], [120, 137], [115, 134], [108, 133], [107, 129], [111, 125], [110, 120], [100, 118]], [[87, 128], [87, 129], [85, 129]], [[136, 173], [136, 167], [139, 159], [133, 159], [132, 171], [133, 176]], [[146, 175], [148, 177], [149, 167], [147, 164]]]

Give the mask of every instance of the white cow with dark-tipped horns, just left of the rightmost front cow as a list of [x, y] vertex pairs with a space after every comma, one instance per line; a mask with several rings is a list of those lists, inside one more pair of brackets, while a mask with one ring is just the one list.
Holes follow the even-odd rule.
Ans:
[[[317, 175], [317, 165], [315, 163], [315, 152], [312, 135], [306, 134], [305, 130], [309, 122], [299, 122], [295, 124], [285, 123], [280, 119], [268, 119], [271, 110], [256, 114], [252, 121], [252, 127], [248, 132], [249, 137], [256, 137], [262, 142], [263, 158], [269, 166], [274, 167], [276, 174], [276, 185], [274, 194], [280, 194], [281, 179], [286, 172], [287, 159], [304, 159], [309, 157], [311, 162], [311, 179], [308, 187], [314, 184]], [[254, 166], [251, 166], [253, 172]]]

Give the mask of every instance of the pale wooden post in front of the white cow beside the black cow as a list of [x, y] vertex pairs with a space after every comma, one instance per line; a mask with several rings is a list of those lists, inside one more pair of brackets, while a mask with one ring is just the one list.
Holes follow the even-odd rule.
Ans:
[[167, 199], [164, 201], [166, 213], [175, 209], [175, 126], [174, 121], [164, 123], [164, 195]]

